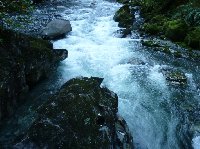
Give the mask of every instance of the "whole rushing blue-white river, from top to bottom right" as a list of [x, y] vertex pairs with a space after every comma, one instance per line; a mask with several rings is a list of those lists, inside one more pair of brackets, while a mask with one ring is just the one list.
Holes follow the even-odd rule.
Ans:
[[[128, 123], [136, 149], [200, 148], [199, 63], [174, 59], [141, 45], [141, 37], [119, 38], [113, 15], [120, 5], [105, 0], [77, 0], [61, 13], [73, 31], [55, 41], [69, 57], [59, 66], [61, 84], [77, 76], [104, 78], [119, 96], [119, 114]], [[168, 85], [160, 69], [185, 72], [188, 86]], [[200, 130], [200, 129], [198, 129]], [[192, 139], [192, 137], [194, 137]]]

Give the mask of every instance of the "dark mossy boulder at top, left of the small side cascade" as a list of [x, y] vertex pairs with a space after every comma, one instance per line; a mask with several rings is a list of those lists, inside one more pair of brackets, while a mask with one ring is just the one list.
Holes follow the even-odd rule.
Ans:
[[134, 15], [131, 12], [129, 5], [122, 6], [114, 15], [113, 18], [116, 22], [119, 22], [119, 27], [131, 28], [133, 25]]

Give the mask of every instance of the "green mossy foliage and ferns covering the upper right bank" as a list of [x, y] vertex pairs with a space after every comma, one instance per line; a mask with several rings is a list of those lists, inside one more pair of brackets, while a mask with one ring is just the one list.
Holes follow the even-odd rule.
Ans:
[[[167, 37], [190, 51], [200, 49], [199, 0], [131, 0], [129, 3], [141, 6], [145, 20], [140, 28], [142, 31], [163, 39]], [[174, 56], [182, 55], [174, 52]]]

